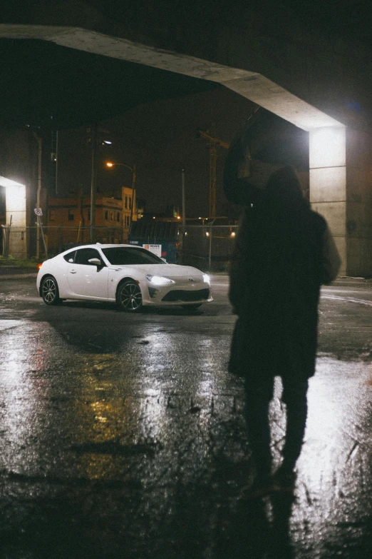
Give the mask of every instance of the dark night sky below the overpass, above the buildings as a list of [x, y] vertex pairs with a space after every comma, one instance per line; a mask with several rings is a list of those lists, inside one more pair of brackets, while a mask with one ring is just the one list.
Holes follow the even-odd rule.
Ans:
[[[106, 191], [130, 186], [131, 173], [118, 166], [108, 170], [107, 159], [136, 165], [138, 198], [148, 211], [162, 212], [167, 205], [182, 203], [181, 173], [185, 169], [186, 204], [190, 216], [206, 216], [209, 203], [210, 159], [208, 142], [199, 129], [229, 143], [239, 126], [252, 114], [254, 105], [224, 88], [177, 99], [153, 101], [101, 122], [110, 131], [113, 146], [100, 148], [98, 189]], [[105, 136], [105, 134], [103, 134]], [[90, 154], [84, 146], [85, 129], [61, 131], [58, 190], [67, 193], [77, 182], [88, 193]], [[222, 211], [222, 168], [226, 150], [217, 153], [217, 201]], [[72, 188], [71, 188], [72, 187]]]

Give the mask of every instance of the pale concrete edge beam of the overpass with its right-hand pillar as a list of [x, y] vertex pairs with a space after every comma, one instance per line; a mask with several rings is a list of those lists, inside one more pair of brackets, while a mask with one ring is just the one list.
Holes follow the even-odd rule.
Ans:
[[[123, 37], [64, 26], [0, 26], [0, 36], [43, 39], [116, 59], [215, 81], [309, 132], [310, 199], [334, 233], [341, 274], [372, 274], [372, 141], [257, 71], [192, 54], [160, 49]], [[228, 46], [228, 45], [227, 45]], [[242, 59], [244, 53], [240, 54]], [[234, 56], [231, 57], [232, 59]], [[346, 124], [345, 124], [346, 123]]]

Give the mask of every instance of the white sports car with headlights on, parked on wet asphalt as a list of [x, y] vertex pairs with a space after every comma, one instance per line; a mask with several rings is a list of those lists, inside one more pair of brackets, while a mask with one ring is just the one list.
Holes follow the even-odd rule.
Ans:
[[71, 248], [43, 262], [36, 286], [47, 305], [63, 299], [113, 301], [130, 313], [145, 305], [197, 308], [212, 301], [206, 273], [167, 264], [133, 245], [97, 243]]

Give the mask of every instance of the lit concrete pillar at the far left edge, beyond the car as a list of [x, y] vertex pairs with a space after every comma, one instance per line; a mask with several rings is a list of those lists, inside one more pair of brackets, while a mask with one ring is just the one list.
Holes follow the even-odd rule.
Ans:
[[24, 260], [27, 258], [26, 186], [17, 183], [7, 185], [5, 203], [6, 224], [11, 223], [9, 255]]

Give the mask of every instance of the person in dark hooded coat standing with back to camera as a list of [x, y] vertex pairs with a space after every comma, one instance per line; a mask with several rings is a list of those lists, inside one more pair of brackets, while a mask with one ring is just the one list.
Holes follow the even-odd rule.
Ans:
[[[315, 372], [321, 284], [333, 281], [341, 260], [326, 221], [304, 200], [294, 168], [272, 173], [261, 190], [239, 168], [244, 143], [227, 155], [224, 191], [245, 206], [234, 246], [229, 299], [237, 323], [229, 370], [245, 379], [245, 416], [257, 478], [247, 496], [292, 490], [306, 427], [308, 381]], [[286, 439], [272, 475], [269, 403], [274, 377], [283, 384]]]

